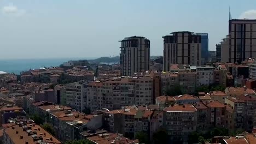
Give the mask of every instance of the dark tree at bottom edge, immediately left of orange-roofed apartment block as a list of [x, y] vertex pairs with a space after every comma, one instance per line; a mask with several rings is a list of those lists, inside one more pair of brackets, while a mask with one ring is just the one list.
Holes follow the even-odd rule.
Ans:
[[156, 133], [153, 134], [153, 140], [154, 143], [162, 143], [165, 144], [167, 143], [167, 132], [165, 129], [159, 129], [156, 131]]

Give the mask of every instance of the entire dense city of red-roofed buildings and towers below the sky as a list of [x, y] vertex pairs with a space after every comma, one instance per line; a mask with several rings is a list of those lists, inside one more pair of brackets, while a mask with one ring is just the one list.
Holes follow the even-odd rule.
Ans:
[[256, 143], [256, 20], [227, 25], [216, 51], [178, 31], [163, 56], [132, 36], [119, 63], [0, 71], [0, 143]]

